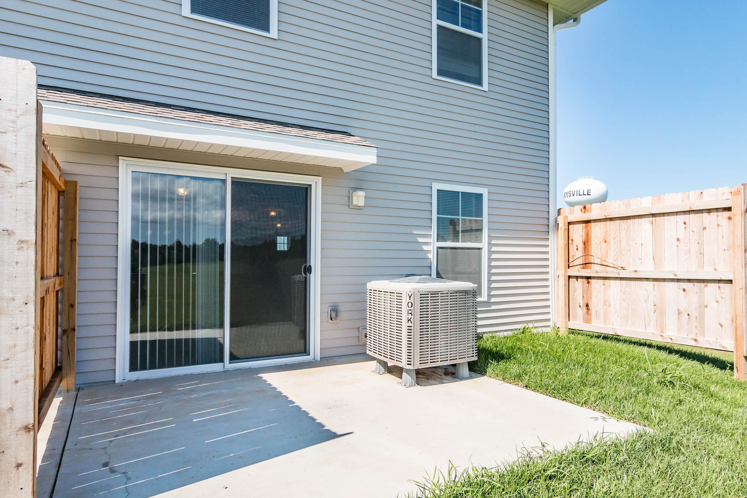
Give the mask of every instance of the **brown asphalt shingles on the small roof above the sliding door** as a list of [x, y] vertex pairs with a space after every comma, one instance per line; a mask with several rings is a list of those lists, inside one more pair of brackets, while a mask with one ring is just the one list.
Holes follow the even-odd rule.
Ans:
[[367, 140], [347, 133], [347, 131], [335, 131], [324, 128], [314, 128], [313, 126], [294, 125], [288, 122], [256, 119], [247, 116], [238, 116], [236, 114], [205, 111], [203, 109], [187, 108], [181, 105], [162, 104], [160, 102], [105, 95], [103, 93], [86, 92], [83, 90], [71, 90], [69, 88], [40, 85], [37, 89], [37, 98], [50, 102], [84, 105], [92, 108], [108, 109], [110, 111], [123, 111], [145, 114], [147, 116], [183, 119], [185, 121], [202, 122], [207, 125], [231, 126], [232, 128], [243, 128], [245, 130], [279, 133], [292, 135], [294, 137], [314, 138], [317, 140], [332, 140], [334, 142], [349, 143], [350, 145], [373, 147], [373, 144], [369, 143]]

